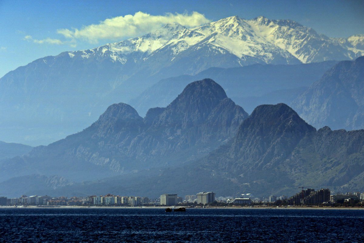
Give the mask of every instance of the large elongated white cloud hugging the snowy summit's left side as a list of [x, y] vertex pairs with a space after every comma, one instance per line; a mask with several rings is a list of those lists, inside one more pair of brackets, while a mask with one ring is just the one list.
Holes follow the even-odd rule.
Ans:
[[166, 13], [165, 15], [150, 15], [137, 12], [134, 15], [125, 15], [100, 21], [99, 24], [83, 26], [80, 29], [60, 29], [57, 32], [69, 39], [83, 39], [96, 43], [100, 39], [120, 40], [126, 37], [135, 37], [157, 30], [168, 23], [178, 23], [183, 26], [195, 27], [209, 23], [210, 20], [198, 12]]

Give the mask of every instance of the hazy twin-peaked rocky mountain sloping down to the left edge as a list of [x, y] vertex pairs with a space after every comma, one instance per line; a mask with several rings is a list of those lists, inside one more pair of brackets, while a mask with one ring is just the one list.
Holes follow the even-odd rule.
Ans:
[[183, 164], [224, 144], [246, 117], [221, 86], [203, 79], [144, 119], [127, 104], [111, 105], [82, 132], [1, 161], [0, 178], [36, 173], [82, 181]]

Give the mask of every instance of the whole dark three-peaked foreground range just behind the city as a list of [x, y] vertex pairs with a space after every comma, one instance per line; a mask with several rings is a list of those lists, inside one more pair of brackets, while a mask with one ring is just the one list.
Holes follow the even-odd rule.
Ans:
[[[248, 117], [203, 79], [145, 118], [114, 104], [82, 132], [0, 161], [0, 193], [266, 196], [302, 185], [362, 191], [363, 148], [364, 130], [316, 130], [282, 103], [258, 106]], [[24, 178], [37, 185], [12, 183]]]

